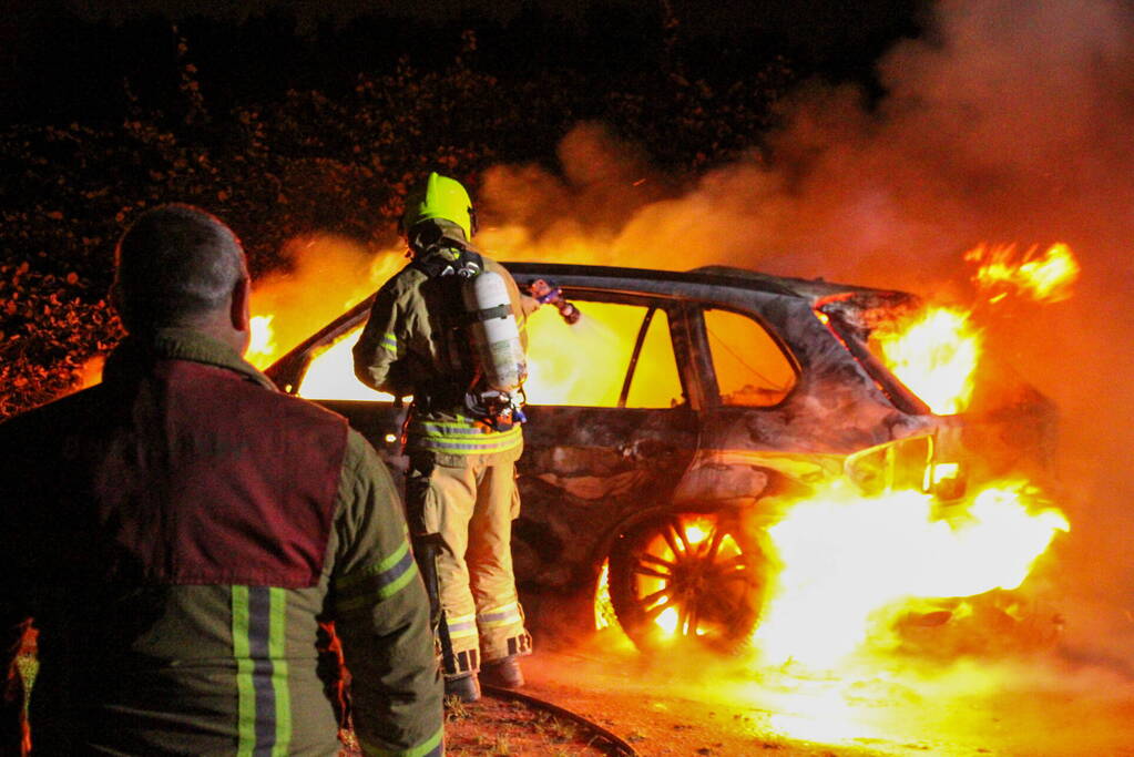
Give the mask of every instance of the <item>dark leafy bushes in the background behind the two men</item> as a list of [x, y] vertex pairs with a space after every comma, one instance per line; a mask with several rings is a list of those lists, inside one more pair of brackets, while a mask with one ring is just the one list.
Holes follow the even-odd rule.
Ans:
[[118, 126], [0, 127], [0, 418], [74, 389], [83, 366], [121, 337], [108, 305], [113, 244], [141, 211], [200, 205], [245, 241], [254, 277], [322, 231], [390, 241], [407, 188], [442, 168], [475, 184], [497, 162], [551, 163], [579, 120], [601, 120], [661, 168], [692, 177], [750, 150], [790, 79], [776, 60], [727, 86], [668, 62], [618, 80], [587, 70], [510, 76], [479, 65], [466, 31], [447, 66], [401, 58], [352, 90], [289, 90], [211, 107], [194, 50], [172, 28], [178, 76], [162, 109], [127, 85]]

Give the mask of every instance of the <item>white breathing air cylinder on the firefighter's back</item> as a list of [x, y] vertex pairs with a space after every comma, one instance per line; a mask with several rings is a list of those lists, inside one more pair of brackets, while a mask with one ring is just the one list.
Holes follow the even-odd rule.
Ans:
[[483, 271], [466, 279], [462, 290], [485, 388], [518, 392], [527, 378], [527, 358], [503, 277]]

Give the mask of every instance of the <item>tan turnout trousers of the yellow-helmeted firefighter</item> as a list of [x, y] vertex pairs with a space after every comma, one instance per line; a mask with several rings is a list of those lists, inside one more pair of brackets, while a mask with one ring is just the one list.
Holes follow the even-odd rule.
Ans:
[[443, 466], [431, 454], [413, 454], [406, 493], [412, 528], [440, 536], [439, 636], [447, 632], [451, 645], [451, 656], [443, 654], [446, 675], [528, 654], [511, 568], [511, 521], [519, 513], [515, 463], [473, 458]]

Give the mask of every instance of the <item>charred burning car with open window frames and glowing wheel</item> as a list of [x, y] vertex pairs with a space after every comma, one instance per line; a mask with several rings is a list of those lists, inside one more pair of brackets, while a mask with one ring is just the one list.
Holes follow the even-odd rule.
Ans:
[[[1006, 468], [1049, 451], [1050, 407], [1034, 391], [941, 416], [887, 369], [872, 333], [917, 309], [913, 295], [723, 266], [506, 266], [521, 288], [553, 281], [583, 313], [576, 325], [551, 308], [530, 321], [513, 552], [536, 628], [593, 628], [606, 585], [638, 647], [677, 636], [735, 649], [760, 621], [778, 503], [836, 479], [945, 501], [964, 487], [965, 450]], [[407, 407], [349, 366], [371, 304], [266, 373], [344, 415], [401, 471]], [[352, 389], [327, 389], [329, 371]]]

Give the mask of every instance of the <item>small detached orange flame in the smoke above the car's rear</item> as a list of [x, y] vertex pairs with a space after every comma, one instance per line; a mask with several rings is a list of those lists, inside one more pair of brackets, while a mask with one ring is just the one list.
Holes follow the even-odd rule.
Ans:
[[1016, 245], [980, 245], [965, 253], [965, 260], [978, 264], [973, 282], [993, 301], [1007, 294], [1039, 303], [1068, 299], [1081, 271], [1075, 254], [1063, 243], [1038, 250], [1035, 245], [1024, 253]]

